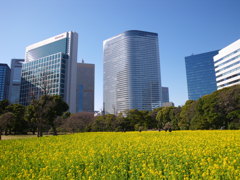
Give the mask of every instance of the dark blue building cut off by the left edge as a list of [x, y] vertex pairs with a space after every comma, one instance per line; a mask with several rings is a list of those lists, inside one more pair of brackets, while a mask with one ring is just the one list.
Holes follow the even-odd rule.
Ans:
[[0, 63], [0, 101], [8, 99], [10, 73], [9, 66]]

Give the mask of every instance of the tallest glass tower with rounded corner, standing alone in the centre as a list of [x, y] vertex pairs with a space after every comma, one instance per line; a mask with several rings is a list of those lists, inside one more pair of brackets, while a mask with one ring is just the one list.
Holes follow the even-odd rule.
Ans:
[[131, 30], [103, 42], [105, 113], [161, 106], [158, 34]]

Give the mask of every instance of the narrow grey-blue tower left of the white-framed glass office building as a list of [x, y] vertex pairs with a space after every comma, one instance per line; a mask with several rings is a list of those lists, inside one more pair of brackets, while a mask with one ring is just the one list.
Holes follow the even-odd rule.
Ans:
[[12, 59], [11, 61], [11, 75], [8, 100], [12, 104], [18, 104], [20, 98], [21, 87], [21, 71], [24, 59]]

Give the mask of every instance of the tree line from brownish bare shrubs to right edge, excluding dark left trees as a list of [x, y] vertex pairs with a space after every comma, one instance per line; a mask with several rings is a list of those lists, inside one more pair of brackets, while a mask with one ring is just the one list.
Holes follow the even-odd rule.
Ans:
[[118, 115], [85, 118], [72, 115], [67, 121], [74, 131], [142, 131], [240, 129], [240, 85], [224, 88], [179, 107], [160, 107], [152, 111], [132, 109]]

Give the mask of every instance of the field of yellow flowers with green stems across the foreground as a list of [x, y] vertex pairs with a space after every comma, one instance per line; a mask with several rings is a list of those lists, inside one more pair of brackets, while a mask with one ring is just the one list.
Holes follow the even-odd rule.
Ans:
[[5, 140], [0, 141], [0, 179], [240, 179], [240, 131]]

